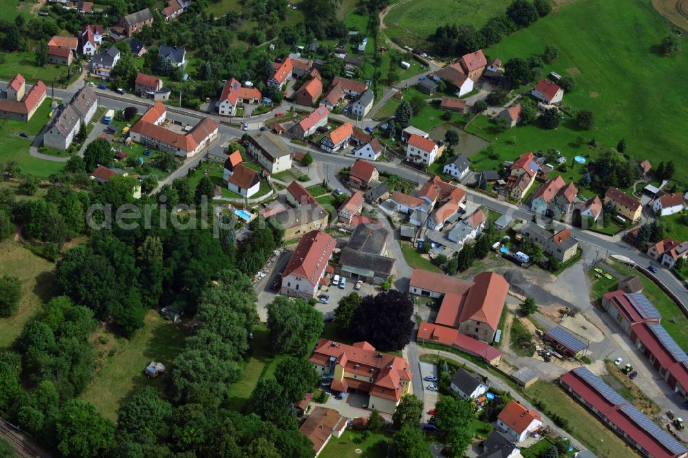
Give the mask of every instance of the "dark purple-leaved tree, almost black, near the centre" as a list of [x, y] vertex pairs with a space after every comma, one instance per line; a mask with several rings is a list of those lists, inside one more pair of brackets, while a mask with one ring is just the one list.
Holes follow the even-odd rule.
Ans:
[[400, 350], [411, 339], [413, 302], [397, 290], [365, 296], [351, 320], [350, 332], [356, 340], [366, 340], [373, 347]]

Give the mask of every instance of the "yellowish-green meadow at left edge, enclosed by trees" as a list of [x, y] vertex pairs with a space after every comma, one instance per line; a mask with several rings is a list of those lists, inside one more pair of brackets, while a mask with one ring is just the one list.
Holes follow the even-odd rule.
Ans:
[[10, 318], [0, 318], [0, 350], [8, 349], [21, 334], [24, 325], [40, 310], [43, 301], [54, 294], [55, 265], [13, 241], [0, 242], [0, 275], [21, 279], [19, 311]]

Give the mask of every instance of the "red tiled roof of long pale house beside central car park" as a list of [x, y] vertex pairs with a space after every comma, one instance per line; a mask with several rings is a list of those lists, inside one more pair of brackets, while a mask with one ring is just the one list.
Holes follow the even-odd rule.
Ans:
[[293, 274], [303, 277], [312, 285], [317, 285], [335, 247], [336, 241], [327, 232], [308, 232], [292, 253], [282, 278]]

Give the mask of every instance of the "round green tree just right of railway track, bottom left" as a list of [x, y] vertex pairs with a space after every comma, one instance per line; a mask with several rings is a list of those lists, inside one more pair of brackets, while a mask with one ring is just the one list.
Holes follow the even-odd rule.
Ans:
[[115, 426], [93, 404], [76, 398], [65, 403], [56, 423], [57, 448], [65, 456], [99, 457], [114, 444]]

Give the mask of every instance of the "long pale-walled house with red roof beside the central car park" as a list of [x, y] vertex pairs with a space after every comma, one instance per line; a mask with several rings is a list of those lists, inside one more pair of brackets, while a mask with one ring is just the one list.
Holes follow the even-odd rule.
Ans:
[[325, 269], [332, 257], [336, 241], [321, 230], [312, 230], [301, 237], [282, 272], [281, 294], [308, 301], [321, 285], [327, 285]]

